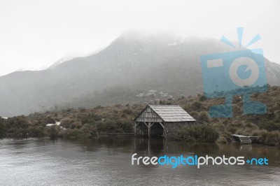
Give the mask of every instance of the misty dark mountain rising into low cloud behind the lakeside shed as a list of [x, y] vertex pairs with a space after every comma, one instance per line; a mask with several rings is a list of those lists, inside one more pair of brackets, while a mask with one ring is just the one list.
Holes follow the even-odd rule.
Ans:
[[[125, 32], [97, 54], [74, 58], [43, 71], [1, 76], [0, 115], [201, 93], [200, 56], [233, 50], [211, 38]], [[280, 65], [268, 59], [265, 64], [268, 83], [279, 85]]]

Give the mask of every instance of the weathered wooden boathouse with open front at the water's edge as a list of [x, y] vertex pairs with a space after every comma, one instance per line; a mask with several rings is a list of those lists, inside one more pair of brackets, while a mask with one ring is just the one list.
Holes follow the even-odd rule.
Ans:
[[136, 136], [164, 136], [171, 138], [181, 127], [196, 120], [181, 106], [148, 105], [134, 119]]

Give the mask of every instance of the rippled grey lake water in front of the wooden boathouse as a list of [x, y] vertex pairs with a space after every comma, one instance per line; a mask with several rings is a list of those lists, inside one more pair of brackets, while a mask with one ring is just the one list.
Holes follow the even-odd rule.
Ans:
[[[132, 165], [132, 155], [267, 157], [269, 165]], [[280, 150], [264, 145], [179, 143], [134, 136], [66, 141], [0, 140], [0, 185], [280, 185]]]

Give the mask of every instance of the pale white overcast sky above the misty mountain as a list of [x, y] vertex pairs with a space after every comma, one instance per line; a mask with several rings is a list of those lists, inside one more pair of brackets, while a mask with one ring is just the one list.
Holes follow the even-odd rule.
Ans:
[[280, 1], [0, 0], [0, 76], [104, 48], [127, 29], [237, 41], [280, 63]]

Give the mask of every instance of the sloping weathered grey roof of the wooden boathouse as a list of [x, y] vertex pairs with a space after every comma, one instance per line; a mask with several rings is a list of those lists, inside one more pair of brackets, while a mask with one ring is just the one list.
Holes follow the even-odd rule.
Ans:
[[149, 105], [165, 122], [195, 122], [181, 106]]

